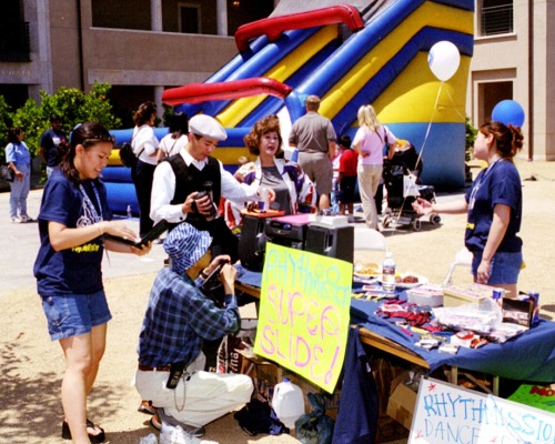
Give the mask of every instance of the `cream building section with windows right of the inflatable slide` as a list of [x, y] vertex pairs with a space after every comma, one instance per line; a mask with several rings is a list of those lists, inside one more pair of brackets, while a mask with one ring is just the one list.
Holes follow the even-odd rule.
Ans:
[[477, 0], [467, 115], [487, 120], [501, 100], [525, 113], [524, 152], [555, 160], [555, 1]]

